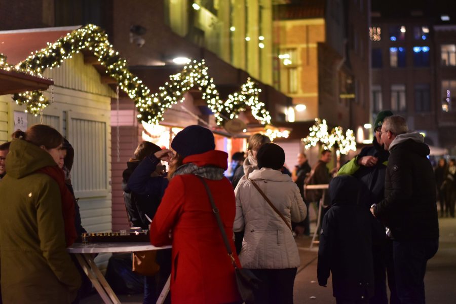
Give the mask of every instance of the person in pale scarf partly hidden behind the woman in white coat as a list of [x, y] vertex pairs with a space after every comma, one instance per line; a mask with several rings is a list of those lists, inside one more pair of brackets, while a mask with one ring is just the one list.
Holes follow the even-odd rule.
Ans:
[[250, 136], [247, 143], [247, 158], [244, 160], [244, 164], [240, 166], [232, 180], [233, 188], [236, 188], [241, 178], [248, 178], [250, 172], [258, 169], [256, 162], [256, 154], [258, 149], [265, 143], [271, 142], [271, 139], [263, 134], [256, 133]]

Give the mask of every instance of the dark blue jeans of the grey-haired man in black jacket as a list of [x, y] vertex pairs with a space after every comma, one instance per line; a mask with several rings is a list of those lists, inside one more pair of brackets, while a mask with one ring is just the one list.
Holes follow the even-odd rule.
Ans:
[[425, 304], [426, 263], [439, 247], [439, 239], [394, 241], [396, 288], [401, 304]]

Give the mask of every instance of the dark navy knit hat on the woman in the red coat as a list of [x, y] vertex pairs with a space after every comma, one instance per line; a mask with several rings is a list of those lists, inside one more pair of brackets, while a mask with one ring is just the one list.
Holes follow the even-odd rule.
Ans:
[[201, 126], [188, 126], [176, 134], [171, 142], [171, 148], [183, 158], [205, 153], [215, 149], [214, 134]]

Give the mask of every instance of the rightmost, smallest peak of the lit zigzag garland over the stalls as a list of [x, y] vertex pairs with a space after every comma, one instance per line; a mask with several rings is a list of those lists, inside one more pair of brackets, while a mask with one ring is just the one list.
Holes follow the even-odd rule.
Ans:
[[246, 106], [249, 106], [253, 117], [262, 125], [271, 124], [269, 112], [264, 108], [264, 103], [258, 100], [261, 89], [257, 89], [255, 85], [250, 77], [247, 78], [247, 82], [241, 87], [241, 92], [228, 96], [223, 104], [224, 108], [220, 110], [221, 115], [230, 119], [238, 118], [239, 113], [245, 111]]

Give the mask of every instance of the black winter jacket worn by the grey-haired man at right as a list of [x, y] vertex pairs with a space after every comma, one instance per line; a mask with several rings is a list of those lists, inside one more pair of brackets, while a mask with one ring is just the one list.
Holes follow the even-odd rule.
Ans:
[[429, 147], [419, 133], [396, 136], [390, 145], [385, 199], [375, 216], [390, 227], [395, 240], [439, 237], [434, 171]]

